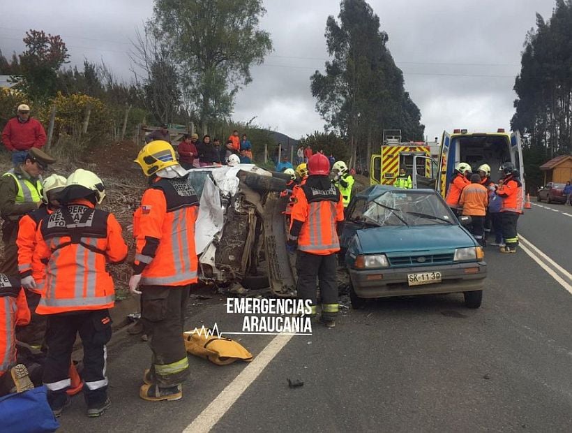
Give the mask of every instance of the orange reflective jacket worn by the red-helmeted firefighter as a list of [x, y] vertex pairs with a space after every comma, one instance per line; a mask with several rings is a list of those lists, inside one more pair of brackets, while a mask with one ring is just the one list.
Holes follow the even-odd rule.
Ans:
[[326, 256], [340, 251], [336, 225], [343, 219], [344, 204], [340, 191], [333, 184], [319, 184], [310, 176], [296, 192], [290, 235], [298, 237], [300, 251]]

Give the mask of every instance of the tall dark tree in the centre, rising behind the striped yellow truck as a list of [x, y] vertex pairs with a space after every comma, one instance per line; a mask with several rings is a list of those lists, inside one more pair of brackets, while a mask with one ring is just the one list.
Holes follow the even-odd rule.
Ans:
[[347, 137], [353, 152], [359, 147], [366, 160], [384, 129], [401, 129], [406, 140], [423, 140], [421, 112], [403, 87], [379, 17], [365, 0], [341, 1], [338, 17], [339, 22], [333, 16], [326, 21], [332, 60], [326, 62], [325, 74], [316, 71], [311, 77], [326, 127]]

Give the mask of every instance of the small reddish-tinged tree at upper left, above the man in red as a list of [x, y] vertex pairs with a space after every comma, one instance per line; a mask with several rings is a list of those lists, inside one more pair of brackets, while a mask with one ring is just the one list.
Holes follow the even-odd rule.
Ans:
[[69, 57], [66, 44], [58, 35], [30, 30], [24, 38], [26, 51], [20, 54], [20, 65], [13, 80], [15, 88], [32, 101], [45, 101], [57, 92], [57, 71]]

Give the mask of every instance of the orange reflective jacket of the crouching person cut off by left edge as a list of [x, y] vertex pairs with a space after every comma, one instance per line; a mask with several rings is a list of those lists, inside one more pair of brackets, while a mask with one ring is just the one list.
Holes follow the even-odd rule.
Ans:
[[0, 274], [0, 376], [16, 363], [16, 325], [30, 323], [30, 310], [19, 278]]

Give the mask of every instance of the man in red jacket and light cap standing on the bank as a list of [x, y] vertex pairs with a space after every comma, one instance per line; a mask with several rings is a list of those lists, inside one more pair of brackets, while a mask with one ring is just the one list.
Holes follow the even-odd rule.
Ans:
[[45, 140], [44, 127], [38, 120], [30, 117], [29, 106], [18, 105], [17, 115], [8, 120], [2, 131], [2, 142], [6, 149], [12, 152], [14, 166], [24, 162], [29, 149], [43, 147]]

